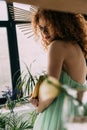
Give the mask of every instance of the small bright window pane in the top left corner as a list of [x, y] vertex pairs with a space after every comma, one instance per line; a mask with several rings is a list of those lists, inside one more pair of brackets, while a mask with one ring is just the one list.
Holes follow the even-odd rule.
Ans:
[[8, 20], [7, 5], [4, 0], [0, 1], [0, 21]]

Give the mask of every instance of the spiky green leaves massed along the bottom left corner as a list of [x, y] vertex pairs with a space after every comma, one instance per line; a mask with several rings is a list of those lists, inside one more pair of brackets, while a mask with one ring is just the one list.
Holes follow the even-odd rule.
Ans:
[[31, 130], [37, 113], [0, 113], [0, 130]]

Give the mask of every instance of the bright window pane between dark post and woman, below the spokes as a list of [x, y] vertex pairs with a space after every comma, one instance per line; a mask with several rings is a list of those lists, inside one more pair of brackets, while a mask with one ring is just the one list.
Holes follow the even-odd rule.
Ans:
[[44, 51], [39, 40], [35, 41], [33, 36], [27, 38], [17, 26], [16, 29], [21, 71], [24, 72], [26, 70], [26, 64], [28, 68], [31, 65], [32, 74], [42, 73], [47, 66], [46, 51]]

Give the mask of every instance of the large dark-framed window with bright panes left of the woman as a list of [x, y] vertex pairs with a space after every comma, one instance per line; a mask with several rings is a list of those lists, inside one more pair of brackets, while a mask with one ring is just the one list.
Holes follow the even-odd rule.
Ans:
[[[0, 14], [0, 103], [2, 102], [2, 91], [6, 91], [8, 87], [9, 89], [15, 89], [17, 79], [20, 76], [20, 70], [26, 73], [25, 64], [29, 69], [31, 66], [32, 74], [45, 71], [47, 64], [46, 52], [39, 43], [40, 41], [35, 41], [33, 36], [27, 38], [28, 35], [24, 33], [28, 33], [22, 32], [20, 29], [20, 27], [23, 27], [23, 24], [26, 24], [26, 20], [27, 23], [30, 21], [30, 19], [25, 18], [25, 15], [22, 15], [23, 19], [21, 19], [19, 17], [21, 16], [20, 13], [25, 14], [27, 12], [29, 16], [30, 6], [17, 3], [13, 3], [13, 5], [13, 14], [17, 18], [15, 20], [11, 18], [10, 12], [7, 15], [8, 6], [5, 1], [0, 1], [0, 12], [2, 12]], [[10, 9], [13, 8], [13, 5], [10, 4]]]

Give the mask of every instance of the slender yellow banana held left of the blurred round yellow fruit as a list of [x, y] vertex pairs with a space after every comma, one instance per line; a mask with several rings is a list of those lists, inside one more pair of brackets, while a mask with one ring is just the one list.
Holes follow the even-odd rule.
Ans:
[[45, 76], [41, 75], [39, 77], [38, 81], [35, 84], [34, 91], [33, 91], [33, 94], [32, 94], [32, 98], [38, 98], [40, 85], [46, 79], [46, 77], [47, 77], [46, 75]]

